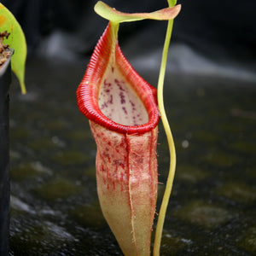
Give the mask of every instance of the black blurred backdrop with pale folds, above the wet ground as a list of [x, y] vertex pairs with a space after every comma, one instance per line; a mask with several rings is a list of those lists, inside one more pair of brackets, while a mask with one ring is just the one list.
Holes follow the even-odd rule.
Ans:
[[[23, 27], [29, 55], [66, 60], [88, 57], [108, 22], [94, 12], [96, 1], [3, 0], [2, 3]], [[108, 0], [106, 3], [125, 12], [149, 12], [167, 6], [164, 0]], [[255, 79], [255, 1], [180, 0], [177, 3], [182, 4], [182, 11], [175, 20], [169, 68]], [[121, 26], [119, 42], [131, 57], [145, 55], [146, 58], [161, 49], [165, 32], [165, 21], [132, 22]], [[155, 63], [140, 64], [154, 67]]]

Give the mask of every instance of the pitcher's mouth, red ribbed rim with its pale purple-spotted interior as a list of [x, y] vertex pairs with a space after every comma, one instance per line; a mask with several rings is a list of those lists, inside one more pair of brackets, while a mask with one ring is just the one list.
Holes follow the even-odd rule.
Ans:
[[156, 89], [126, 60], [111, 23], [90, 58], [77, 102], [88, 119], [119, 133], [142, 134], [158, 125]]

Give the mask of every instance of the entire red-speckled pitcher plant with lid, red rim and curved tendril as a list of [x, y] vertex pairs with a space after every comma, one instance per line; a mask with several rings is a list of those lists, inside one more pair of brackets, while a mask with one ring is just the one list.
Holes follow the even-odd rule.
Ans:
[[[96, 3], [96, 13], [109, 23], [77, 90], [79, 110], [90, 119], [96, 141], [96, 183], [102, 213], [125, 255], [150, 255], [158, 187], [156, 145], [160, 117], [172, 164], [155, 233], [154, 255], [160, 253], [172, 190], [175, 148], [164, 112], [162, 88], [172, 20], [180, 11], [180, 5], [173, 2], [166, 9], [135, 14]], [[144, 19], [169, 20], [157, 90], [131, 67], [118, 43], [120, 22]]]

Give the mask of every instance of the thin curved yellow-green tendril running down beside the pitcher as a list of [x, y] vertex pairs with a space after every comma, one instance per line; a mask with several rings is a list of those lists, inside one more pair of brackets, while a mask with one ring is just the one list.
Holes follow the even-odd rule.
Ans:
[[[176, 1], [168, 1], [168, 3], [169, 5], [176, 4]], [[162, 230], [163, 230], [165, 217], [166, 217], [166, 209], [168, 207], [169, 198], [172, 192], [172, 183], [173, 183], [173, 178], [174, 178], [175, 168], [176, 168], [176, 151], [175, 151], [175, 146], [173, 142], [172, 131], [168, 123], [168, 119], [166, 117], [166, 110], [164, 107], [164, 99], [163, 99], [163, 87], [164, 87], [164, 79], [165, 79], [165, 73], [166, 73], [166, 61], [167, 61], [169, 44], [172, 36], [172, 26], [173, 26], [173, 20], [169, 20], [167, 31], [166, 31], [166, 40], [165, 40], [165, 45], [164, 45], [163, 54], [162, 54], [160, 75], [159, 75], [158, 86], [157, 86], [157, 99], [159, 104], [161, 120], [164, 126], [164, 130], [166, 132], [166, 137], [167, 137], [169, 151], [170, 151], [170, 167], [169, 167], [169, 174], [166, 181], [166, 191], [160, 206], [160, 213], [159, 213], [156, 230], [155, 230], [154, 251], [153, 251], [154, 256], [160, 255], [160, 241], [162, 236]]]

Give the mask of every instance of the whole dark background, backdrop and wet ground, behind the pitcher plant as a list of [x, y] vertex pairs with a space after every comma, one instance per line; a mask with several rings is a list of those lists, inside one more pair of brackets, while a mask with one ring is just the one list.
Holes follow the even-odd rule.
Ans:
[[[96, 195], [96, 145], [75, 91], [108, 20], [90, 0], [5, 0], [26, 34], [27, 94], [10, 87], [10, 256], [121, 255]], [[166, 0], [106, 0], [125, 12]], [[165, 80], [177, 170], [162, 256], [256, 255], [255, 0], [179, 0]], [[128, 61], [156, 85], [166, 21], [120, 25]], [[159, 201], [169, 152], [159, 125]], [[0, 156], [1, 157], [1, 156]]]

